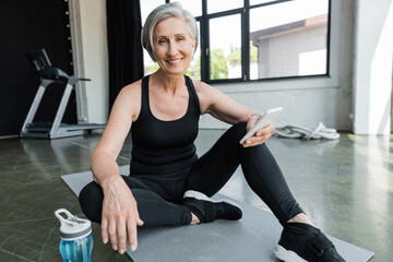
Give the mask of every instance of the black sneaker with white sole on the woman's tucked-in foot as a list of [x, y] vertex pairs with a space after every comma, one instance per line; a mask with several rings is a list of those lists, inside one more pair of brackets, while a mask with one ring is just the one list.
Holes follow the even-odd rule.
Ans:
[[186, 191], [183, 205], [188, 206], [202, 223], [219, 218], [237, 221], [242, 216], [242, 211], [237, 204], [227, 200], [212, 200], [207, 195], [193, 190]]

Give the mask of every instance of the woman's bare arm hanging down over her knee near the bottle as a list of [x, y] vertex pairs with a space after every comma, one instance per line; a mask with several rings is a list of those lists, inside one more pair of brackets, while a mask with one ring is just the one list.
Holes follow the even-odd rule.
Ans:
[[91, 168], [96, 182], [104, 191], [102, 237], [110, 240], [112, 249], [120, 253], [126, 251], [127, 234], [130, 248], [138, 246], [136, 225], [143, 222], [139, 217], [136, 201], [119, 175], [116, 162], [132, 121], [138, 118], [140, 108], [140, 82], [121, 90], [98, 145], [91, 158]]

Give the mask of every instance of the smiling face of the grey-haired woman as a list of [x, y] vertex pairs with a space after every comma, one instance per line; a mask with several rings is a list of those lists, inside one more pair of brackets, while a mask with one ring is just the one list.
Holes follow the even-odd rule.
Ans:
[[168, 74], [183, 74], [192, 60], [195, 40], [180, 17], [160, 21], [154, 29], [154, 53], [157, 63]]

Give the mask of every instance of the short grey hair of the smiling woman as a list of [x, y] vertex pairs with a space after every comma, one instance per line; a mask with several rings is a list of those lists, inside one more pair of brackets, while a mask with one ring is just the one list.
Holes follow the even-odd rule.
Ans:
[[142, 46], [155, 62], [157, 60], [154, 55], [154, 29], [160, 21], [169, 17], [180, 17], [186, 21], [190, 36], [192, 40], [195, 41], [195, 49], [198, 48], [199, 33], [194, 16], [189, 11], [182, 9], [181, 4], [178, 2], [165, 3], [157, 7], [148, 14], [141, 34]]

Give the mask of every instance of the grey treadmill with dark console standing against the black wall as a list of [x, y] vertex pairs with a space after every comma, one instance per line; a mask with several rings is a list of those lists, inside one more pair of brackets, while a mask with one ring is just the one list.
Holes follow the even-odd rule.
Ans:
[[[70, 76], [64, 71], [53, 68], [45, 49], [27, 52], [27, 58], [34, 67], [40, 84], [23, 123], [21, 138], [60, 139], [82, 135], [85, 130], [105, 128], [105, 123], [67, 124], [61, 122], [75, 83], [78, 81], [90, 81], [90, 79]], [[33, 122], [44, 93], [52, 83], [62, 83], [66, 85], [55, 120], [53, 122]]]

